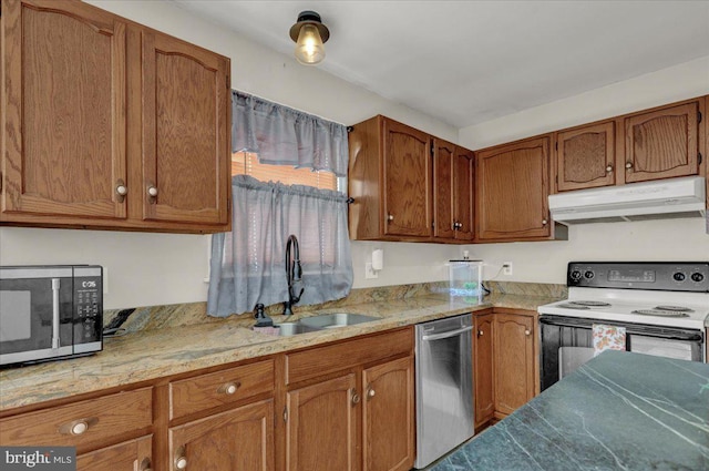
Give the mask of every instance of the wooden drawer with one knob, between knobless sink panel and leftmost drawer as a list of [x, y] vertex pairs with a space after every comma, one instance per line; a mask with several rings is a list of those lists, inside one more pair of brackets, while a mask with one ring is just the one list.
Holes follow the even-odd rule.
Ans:
[[274, 360], [229, 368], [169, 383], [169, 418], [240, 401], [274, 390]]

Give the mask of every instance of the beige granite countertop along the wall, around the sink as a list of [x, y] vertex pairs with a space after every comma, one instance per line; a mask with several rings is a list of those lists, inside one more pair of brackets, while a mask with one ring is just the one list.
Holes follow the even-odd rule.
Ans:
[[[348, 311], [380, 320], [339, 329], [274, 337], [250, 330], [249, 316], [194, 326], [162, 328], [104, 340], [103, 351], [84, 358], [0, 370], [0, 411], [147, 381], [234, 361], [253, 359], [328, 341], [374, 334], [442, 317], [490, 307], [536, 310], [556, 298], [494, 295], [471, 305], [448, 295], [417, 296], [382, 303], [364, 303], [298, 313], [292, 319], [317, 314]], [[276, 319], [278, 320], [278, 319]]]

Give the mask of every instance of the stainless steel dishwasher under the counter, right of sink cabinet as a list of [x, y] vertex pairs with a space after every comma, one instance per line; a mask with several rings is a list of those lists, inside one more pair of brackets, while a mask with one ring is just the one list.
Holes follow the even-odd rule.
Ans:
[[475, 432], [472, 329], [471, 314], [417, 325], [417, 469]]

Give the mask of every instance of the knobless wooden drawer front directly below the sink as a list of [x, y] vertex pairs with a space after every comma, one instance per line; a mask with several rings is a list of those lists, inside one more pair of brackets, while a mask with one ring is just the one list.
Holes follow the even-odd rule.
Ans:
[[286, 385], [413, 351], [413, 327], [286, 355]]

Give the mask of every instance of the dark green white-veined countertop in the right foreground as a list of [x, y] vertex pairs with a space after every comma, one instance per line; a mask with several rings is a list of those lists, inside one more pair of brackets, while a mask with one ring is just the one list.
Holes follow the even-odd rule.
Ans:
[[709, 365], [605, 351], [432, 471], [707, 470]]

